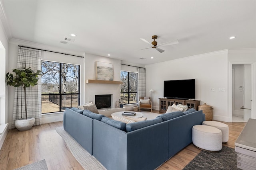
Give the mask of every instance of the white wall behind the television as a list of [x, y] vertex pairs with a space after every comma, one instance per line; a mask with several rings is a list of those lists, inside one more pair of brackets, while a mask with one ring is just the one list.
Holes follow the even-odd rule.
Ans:
[[[196, 79], [196, 100], [214, 108], [214, 119], [228, 120], [228, 50], [146, 65], [146, 92], [154, 89], [153, 107], [159, 110], [164, 80]], [[210, 89], [215, 88], [215, 91]], [[220, 92], [218, 89], [225, 89]]]

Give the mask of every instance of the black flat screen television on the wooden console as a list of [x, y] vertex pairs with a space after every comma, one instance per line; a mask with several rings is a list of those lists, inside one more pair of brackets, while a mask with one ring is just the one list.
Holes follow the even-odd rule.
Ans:
[[164, 97], [176, 99], [195, 98], [195, 79], [164, 81]]

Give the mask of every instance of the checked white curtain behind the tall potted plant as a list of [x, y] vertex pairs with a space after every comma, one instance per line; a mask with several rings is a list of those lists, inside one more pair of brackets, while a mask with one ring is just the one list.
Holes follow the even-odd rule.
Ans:
[[[34, 72], [41, 70], [41, 50], [19, 47], [17, 68], [20, 67], [31, 67]], [[26, 89], [28, 117], [35, 118], [33, 126], [42, 124], [41, 91], [41, 79], [38, 80], [38, 85]], [[16, 119], [24, 117], [24, 90], [20, 86], [15, 88], [12, 128], [15, 128]]]

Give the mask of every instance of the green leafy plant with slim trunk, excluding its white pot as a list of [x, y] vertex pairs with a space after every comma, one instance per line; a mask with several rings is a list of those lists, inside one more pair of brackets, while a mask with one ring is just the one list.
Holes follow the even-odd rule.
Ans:
[[25, 102], [25, 115], [28, 119], [27, 114], [27, 100], [26, 100], [26, 88], [36, 86], [38, 84], [39, 75], [41, 75], [41, 70], [34, 72], [33, 70], [26, 67], [16, 68], [12, 71], [15, 73], [15, 76], [12, 73], [6, 74], [6, 86], [20, 87], [24, 89], [24, 102]]

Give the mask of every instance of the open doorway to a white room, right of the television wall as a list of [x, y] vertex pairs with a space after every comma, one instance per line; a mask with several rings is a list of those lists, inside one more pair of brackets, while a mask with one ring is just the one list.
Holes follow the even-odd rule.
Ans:
[[251, 64], [232, 64], [232, 122], [251, 117]]

